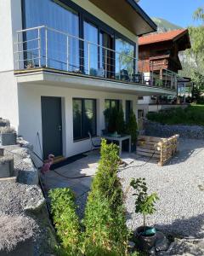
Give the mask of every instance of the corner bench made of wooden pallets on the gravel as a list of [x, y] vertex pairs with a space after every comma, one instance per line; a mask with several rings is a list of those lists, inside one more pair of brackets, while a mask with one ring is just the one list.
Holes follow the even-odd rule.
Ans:
[[137, 143], [137, 154], [158, 159], [158, 165], [163, 166], [177, 152], [178, 137], [148, 137], [139, 136]]

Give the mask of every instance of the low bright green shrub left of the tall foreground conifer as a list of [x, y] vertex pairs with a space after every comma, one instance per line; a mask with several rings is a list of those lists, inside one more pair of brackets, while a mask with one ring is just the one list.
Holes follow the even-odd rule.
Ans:
[[71, 189], [51, 189], [49, 198], [51, 200], [51, 213], [61, 245], [58, 248], [58, 254], [81, 255], [78, 249], [80, 224]]

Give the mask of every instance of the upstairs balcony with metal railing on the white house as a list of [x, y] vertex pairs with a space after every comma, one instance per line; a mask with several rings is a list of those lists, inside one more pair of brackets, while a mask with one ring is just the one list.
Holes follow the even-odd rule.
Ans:
[[[45, 79], [45, 74], [53, 73], [77, 77], [76, 83], [81, 83], [83, 78], [98, 84], [103, 81], [103, 87], [109, 86], [107, 82], [122, 84], [123, 89], [129, 88], [139, 95], [143, 91], [144, 95], [173, 95], [177, 90], [177, 73], [168, 70], [157, 73], [155, 67], [150, 73], [144, 73], [143, 67], [150, 65], [150, 61], [137, 60], [133, 52], [127, 52], [124, 47], [119, 52], [48, 26], [18, 31], [15, 49], [14, 74], [18, 78], [38, 73]], [[39, 77], [34, 80], [37, 79]], [[63, 81], [69, 83], [68, 79]]]

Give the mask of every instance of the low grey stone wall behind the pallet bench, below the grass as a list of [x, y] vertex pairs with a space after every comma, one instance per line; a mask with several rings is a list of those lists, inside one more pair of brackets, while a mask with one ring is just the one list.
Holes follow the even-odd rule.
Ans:
[[162, 125], [156, 122], [144, 122], [145, 135], [153, 137], [171, 137], [179, 134], [180, 137], [204, 139], [204, 126], [198, 125]]

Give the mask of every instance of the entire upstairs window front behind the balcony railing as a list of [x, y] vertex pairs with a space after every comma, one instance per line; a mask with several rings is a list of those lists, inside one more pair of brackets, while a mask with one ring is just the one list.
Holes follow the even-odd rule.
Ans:
[[[134, 43], [74, 1], [63, 2], [67, 4], [59, 0], [22, 0], [24, 28], [43, 25], [54, 28], [54, 31], [48, 29], [47, 41], [44, 29], [40, 35], [37, 30], [24, 32], [25, 65], [44, 67], [47, 64], [59, 70], [131, 80], [135, 67]], [[37, 40], [38, 36], [41, 41]]]

